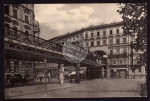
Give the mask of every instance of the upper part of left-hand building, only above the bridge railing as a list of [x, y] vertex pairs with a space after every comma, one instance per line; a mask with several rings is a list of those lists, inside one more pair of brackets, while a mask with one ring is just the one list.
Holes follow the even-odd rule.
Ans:
[[4, 4], [5, 28], [10, 27], [28, 34], [39, 36], [40, 28], [35, 20], [33, 4]]

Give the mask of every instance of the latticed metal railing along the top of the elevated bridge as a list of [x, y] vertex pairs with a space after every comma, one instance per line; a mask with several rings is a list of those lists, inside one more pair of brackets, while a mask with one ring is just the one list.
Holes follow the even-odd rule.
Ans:
[[[14, 30], [13, 28], [10, 28], [10, 27], [5, 28], [5, 38], [32, 44], [35, 46], [43, 47], [43, 48], [57, 51], [57, 52], [62, 52], [62, 48], [63, 48], [63, 46], [58, 43], [47, 42], [47, 40], [45, 40], [45, 39], [36, 37], [31, 34], [27, 34], [25, 32], [19, 31], [19, 30]], [[85, 59], [85, 62], [95, 64], [96, 60], [93, 57], [93, 55], [89, 52]]]

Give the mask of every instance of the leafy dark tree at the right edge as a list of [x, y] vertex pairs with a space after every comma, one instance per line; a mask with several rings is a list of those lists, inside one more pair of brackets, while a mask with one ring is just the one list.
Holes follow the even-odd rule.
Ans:
[[137, 34], [131, 45], [136, 51], [143, 52], [137, 63], [147, 64], [147, 3], [119, 3], [117, 12], [122, 15], [124, 33], [130, 36]]

